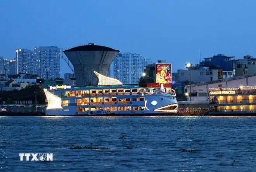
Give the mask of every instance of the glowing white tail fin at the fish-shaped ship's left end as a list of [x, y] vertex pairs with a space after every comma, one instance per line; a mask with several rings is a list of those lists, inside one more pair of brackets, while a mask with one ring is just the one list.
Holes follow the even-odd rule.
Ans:
[[46, 98], [48, 100], [48, 106], [46, 109], [62, 109], [60, 97], [47, 91], [47, 89], [43, 89], [43, 91], [45, 92]]

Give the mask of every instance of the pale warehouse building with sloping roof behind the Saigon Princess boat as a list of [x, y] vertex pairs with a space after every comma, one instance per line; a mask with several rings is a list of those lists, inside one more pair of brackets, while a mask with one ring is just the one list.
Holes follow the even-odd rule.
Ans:
[[[198, 83], [191, 85], [191, 101], [192, 102], [202, 102], [209, 101], [209, 89], [210, 88], [238, 88], [240, 86], [255, 86], [256, 85], [256, 74], [247, 75], [246, 77], [240, 76], [235, 78], [228, 78], [223, 80], [217, 80], [212, 82]], [[189, 95], [189, 87], [188, 87]], [[187, 97], [188, 101], [189, 96]]]

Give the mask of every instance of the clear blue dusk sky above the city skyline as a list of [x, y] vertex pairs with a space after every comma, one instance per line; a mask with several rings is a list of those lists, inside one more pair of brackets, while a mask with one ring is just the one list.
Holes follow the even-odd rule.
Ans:
[[[223, 53], [256, 56], [254, 0], [1, 0], [0, 56], [37, 46], [95, 43], [185, 63]], [[70, 72], [61, 60], [61, 77]]]

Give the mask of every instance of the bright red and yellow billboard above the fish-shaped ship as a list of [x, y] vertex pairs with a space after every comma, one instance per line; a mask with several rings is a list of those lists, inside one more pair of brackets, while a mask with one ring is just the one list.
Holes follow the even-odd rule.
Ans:
[[171, 64], [156, 63], [156, 83], [171, 83]]

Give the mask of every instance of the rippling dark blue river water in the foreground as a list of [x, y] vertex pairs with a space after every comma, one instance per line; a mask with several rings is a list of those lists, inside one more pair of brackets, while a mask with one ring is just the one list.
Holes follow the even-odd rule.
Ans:
[[[69, 149], [91, 142], [110, 149]], [[19, 158], [43, 152], [54, 161]], [[0, 117], [0, 171], [256, 171], [255, 157], [256, 117]]]

